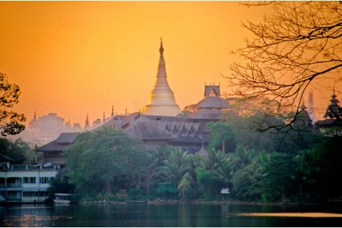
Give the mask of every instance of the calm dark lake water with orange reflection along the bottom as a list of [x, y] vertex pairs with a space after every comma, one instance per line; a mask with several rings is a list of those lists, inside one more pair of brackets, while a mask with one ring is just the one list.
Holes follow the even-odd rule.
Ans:
[[[272, 212], [271, 216], [252, 214], [269, 212]], [[287, 212], [296, 213], [292, 216]], [[307, 217], [312, 214], [298, 214], [298, 212], [324, 212], [324, 214], [318, 214], [319, 217], [317, 214], [313, 214], [315, 217]], [[0, 206], [0, 227], [341, 227], [341, 225], [341, 207], [228, 204]]]

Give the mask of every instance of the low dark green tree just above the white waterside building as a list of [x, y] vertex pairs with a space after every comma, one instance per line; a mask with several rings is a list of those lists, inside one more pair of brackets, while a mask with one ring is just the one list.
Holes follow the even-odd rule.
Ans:
[[21, 138], [12, 142], [7, 138], [0, 138], [0, 153], [14, 160], [15, 164], [21, 164], [26, 160], [26, 154], [32, 149]]

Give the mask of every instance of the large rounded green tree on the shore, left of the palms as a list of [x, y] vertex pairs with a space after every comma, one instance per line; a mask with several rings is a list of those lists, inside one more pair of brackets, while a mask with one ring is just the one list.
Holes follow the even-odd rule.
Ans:
[[116, 180], [143, 172], [146, 164], [144, 144], [122, 129], [111, 127], [79, 134], [64, 155], [70, 183], [81, 196], [112, 194]]

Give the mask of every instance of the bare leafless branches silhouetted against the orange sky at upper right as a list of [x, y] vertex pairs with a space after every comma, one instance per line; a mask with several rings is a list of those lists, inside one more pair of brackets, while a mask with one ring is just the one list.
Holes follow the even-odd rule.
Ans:
[[[312, 81], [336, 82], [342, 77], [342, 3], [271, 1], [247, 5], [272, 5], [273, 12], [261, 23], [243, 23], [253, 36], [233, 53], [246, 62], [233, 63], [226, 78], [241, 97], [266, 95], [278, 101], [278, 108], [269, 110], [271, 115], [282, 112], [286, 116], [295, 111], [284, 121], [291, 126]], [[284, 125], [268, 124], [263, 129], [281, 130]]]

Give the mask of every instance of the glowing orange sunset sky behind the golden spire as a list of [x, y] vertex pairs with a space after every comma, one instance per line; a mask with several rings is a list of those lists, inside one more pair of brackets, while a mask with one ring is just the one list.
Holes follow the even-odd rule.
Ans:
[[[114, 112], [137, 112], [155, 84], [163, 37], [176, 102], [197, 103], [238, 61], [231, 49], [250, 36], [241, 21], [265, 8], [233, 1], [0, 1], [0, 72], [21, 87], [15, 110], [30, 121], [50, 112], [84, 125]], [[315, 91], [328, 105], [331, 92]], [[339, 96], [342, 100], [342, 97]]]

